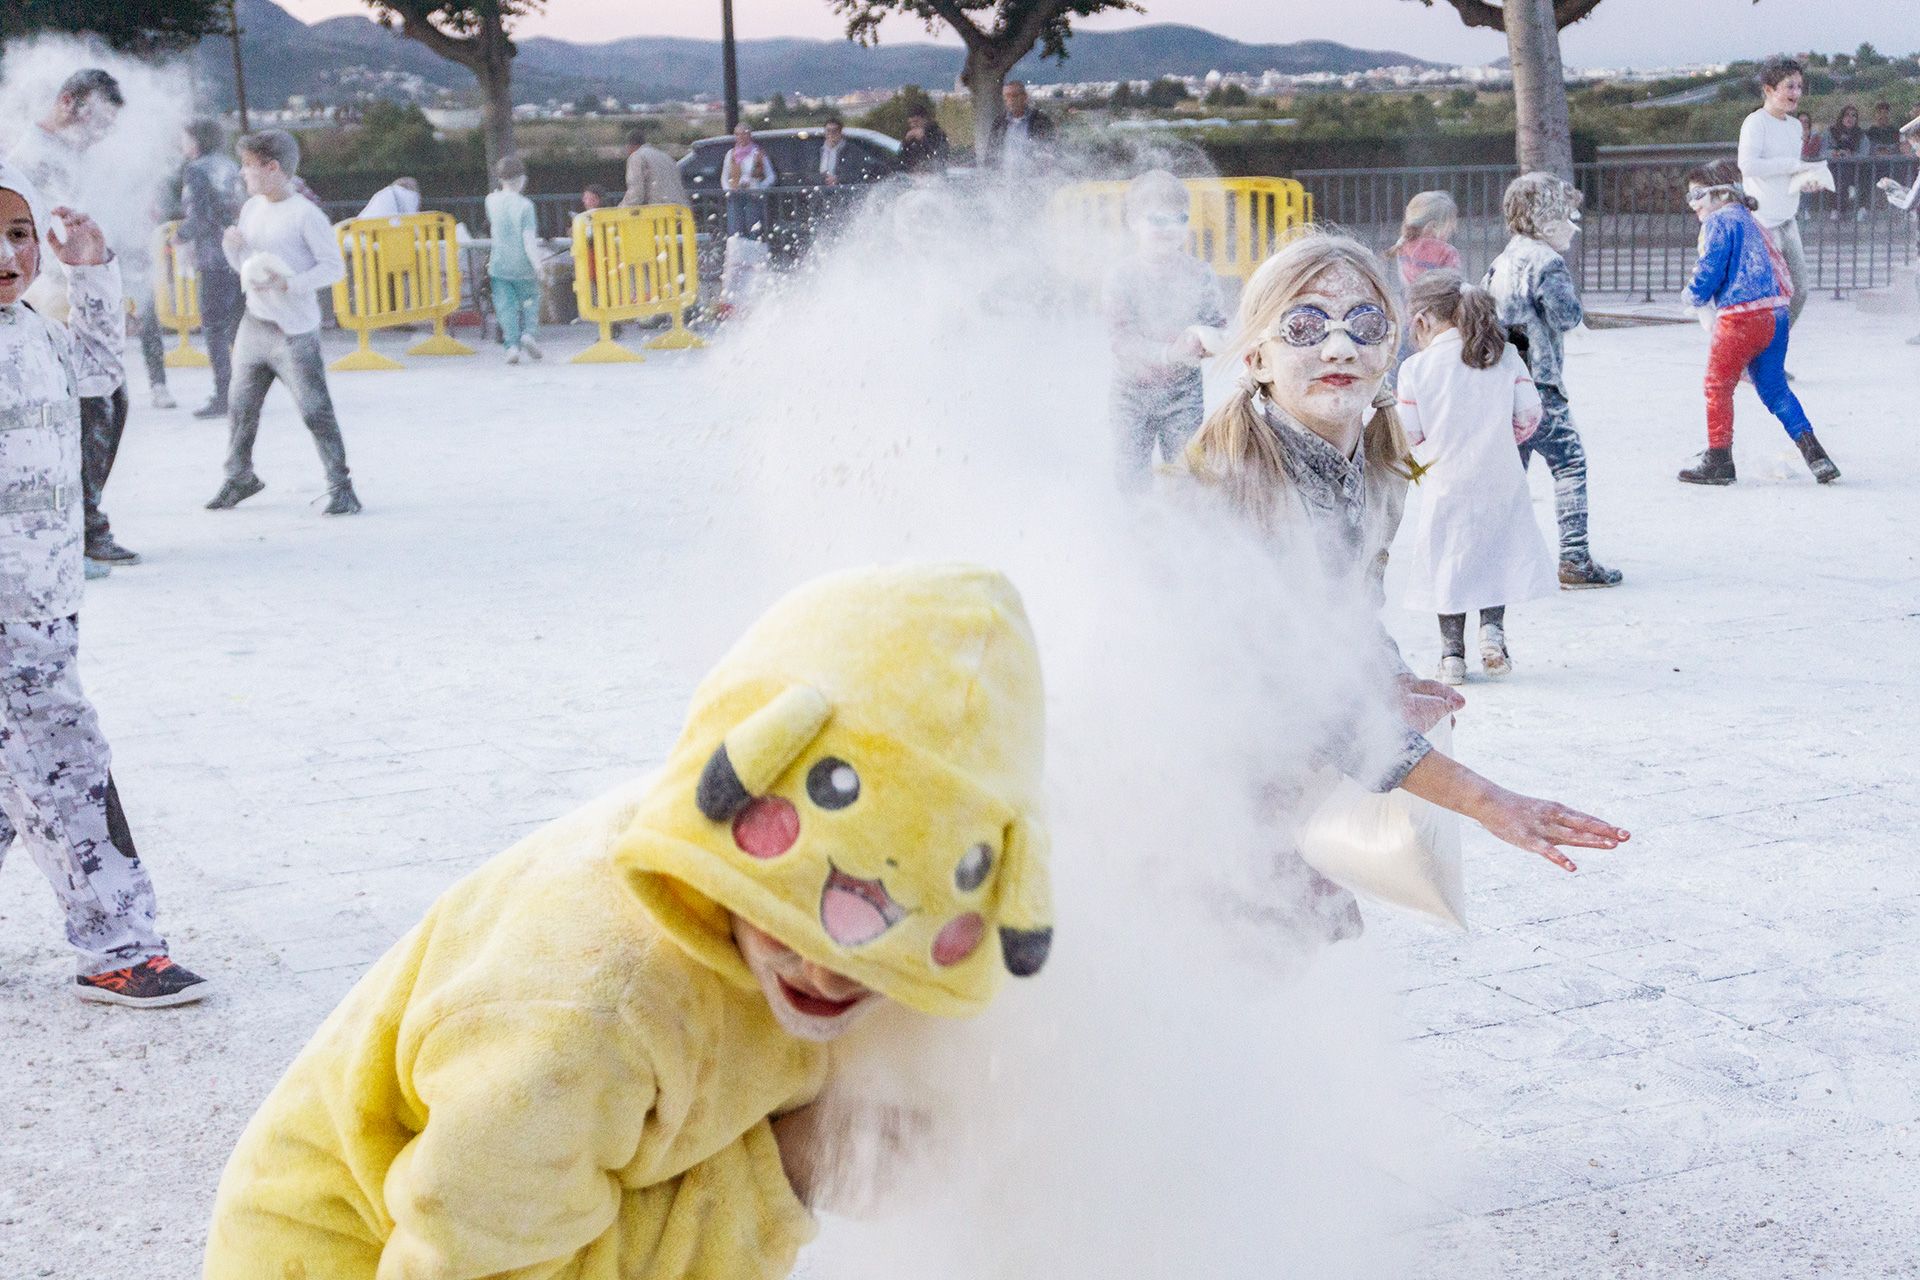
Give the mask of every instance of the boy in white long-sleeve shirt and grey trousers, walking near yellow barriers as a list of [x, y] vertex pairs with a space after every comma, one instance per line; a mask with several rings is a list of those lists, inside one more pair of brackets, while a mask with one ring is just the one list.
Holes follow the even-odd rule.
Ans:
[[317, 296], [346, 276], [346, 257], [321, 207], [294, 192], [300, 169], [294, 134], [280, 129], [248, 134], [238, 150], [250, 200], [240, 209], [238, 225], [227, 228], [223, 248], [246, 290], [246, 319], [234, 336], [227, 484], [207, 510], [238, 507], [267, 487], [253, 474], [253, 438], [259, 434], [261, 405], [278, 378], [294, 393], [326, 468], [326, 514], [349, 516], [361, 505], [348, 478], [348, 447], [326, 391]]

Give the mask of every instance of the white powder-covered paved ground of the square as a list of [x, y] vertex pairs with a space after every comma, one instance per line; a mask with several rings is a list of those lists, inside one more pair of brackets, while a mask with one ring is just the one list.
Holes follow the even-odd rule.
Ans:
[[[1703, 434], [1697, 328], [1571, 344], [1594, 545], [1626, 585], [1515, 608], [1519, 672], [1469, 685], [1457, 741], [1634, 841], [1565, 877], [1469, 833], [1467, 938], [1369, 912], [1442, 1144], [1407, 1167], [1452, 1171], [1421, 1192], [1419, 1276], [1914, 1274], [1912, 328], [1816, 297], [1795, 334], [1830, 489], [1751, 391], [1740, 486], [1674, 484]], [[319, 516], [280, 391], [269, 489], [200, 510], [223, 426], [144, 409], [136, 376], [108, 507], [148, 562], [88, 587], [84, 670], [175, 952], [219, 996], [77, 1004], [13, 850], [0, 1276], [198, 1274], [227, 1150], [363, 967], [455, 877], [664, 754], [705, 656], [685, 633], [710, 631], [685, 601], [730, 518], [684, 430], [714, 359], [336, 376], [353, 520]], [[175, 388], [200, 403], [207, 374]], [[1432, 620], [1394, 629], [1427, 668]]]

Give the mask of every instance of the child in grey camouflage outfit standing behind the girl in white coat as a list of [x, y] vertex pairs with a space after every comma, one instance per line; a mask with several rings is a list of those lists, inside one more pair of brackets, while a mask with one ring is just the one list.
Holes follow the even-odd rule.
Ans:
[[1507, 186], [1501, 211], [1513, 240], [1488, 269], [1486, 288], [1494, 294], [1500, 322], [1526, 357], [1546, 411], [1540, 430], [1521, 443], [1521, 464], [1526, 466], [1538, 453], [1553, 472], [1561, 587], [1613, 587], [1620, 570], [1596, 564], [1586, 545], [1586, 447], [1567, 403], [1567, 351], [1561, 340], [1584, 319], [1572, 273], [1561, 257], [1580, 230], [1580, 192], [1551, 173], [1523, 173]]

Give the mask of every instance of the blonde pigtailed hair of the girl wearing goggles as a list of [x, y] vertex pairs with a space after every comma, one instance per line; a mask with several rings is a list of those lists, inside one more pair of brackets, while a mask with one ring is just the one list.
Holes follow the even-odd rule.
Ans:
[[[1221, 353], [1229, 367], [1244, 363], [1296, 297], [1325, 271], [1352, 267], [1375, 294], [1375, 301], [1400, 324], [1400, 305], [1386, 284], [1386, 267], [1367, 246], [1348, 236], [1308, 232], [1260, 265], [1240, 292], [1233, 340]], [[1407, 476], [1407, 436], [1400, 428], [1394, 399], [1375, 403], [1359, 438], [1369, 466]], [[1269, 522], [1286, 489], [1286, 439], [1254, 407], [1254, 384], [1242, 378], [1187, 445], [1187, 470], [1227, 495], [1242, 512]]]

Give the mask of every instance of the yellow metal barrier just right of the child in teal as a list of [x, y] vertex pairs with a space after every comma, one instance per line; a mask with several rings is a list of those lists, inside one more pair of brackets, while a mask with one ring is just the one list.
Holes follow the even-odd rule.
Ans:
[[647, 344], [655, 351], [707, 345], [687, 330], [687, 309], [699, 294], [693, 211], [685, 205], [589, 209], [574, 219], [574, 299], [580, 315], [601, 326], [599, 342], [574, 365], [643, 359], [612, 340], [612, 326], [655, 315], [674, 320]]

